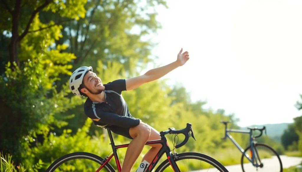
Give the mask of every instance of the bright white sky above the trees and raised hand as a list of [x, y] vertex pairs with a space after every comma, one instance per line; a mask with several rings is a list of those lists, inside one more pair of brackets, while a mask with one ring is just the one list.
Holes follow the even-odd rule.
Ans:
[[168, 0], [157, 8], [158, 65], [189, 61], [165, 75], [205, 108], [224, 109], [239, 126], [291, 123], [302, 115], [302, 1]]

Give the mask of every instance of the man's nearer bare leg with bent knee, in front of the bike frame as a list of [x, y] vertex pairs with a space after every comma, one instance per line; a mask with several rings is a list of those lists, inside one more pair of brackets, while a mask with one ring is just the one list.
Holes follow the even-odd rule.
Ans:
[[149, 139], [150, 133], [151, 128], [143, 122], [136, 127], [130, 128], [129, 134], [133, 140], [127, 148], [121, 172], [130, 172], [134, 162], [137, 160]]

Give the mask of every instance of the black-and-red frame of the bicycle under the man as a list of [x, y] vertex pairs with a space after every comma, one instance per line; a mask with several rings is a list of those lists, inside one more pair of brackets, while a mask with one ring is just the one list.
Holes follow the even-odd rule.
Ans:
[[[96, 172], [98, 172], [99, 170], [101, 170], [101, 168], [103, 168], [104, 165], [106, 163], [108, 163], [111, 160], [112, 157], [115, 158], [115, 162], [117, 164], [117, 170], [118, 170], [118, 172], [120, 172], [122, 168], [121, 168], [121, 165], [120, 165], [120, 160], [118, 158], [117, 149], [119, 149], [119, 148], [126, 148], [126, 147], [129, 146], [129, 143], [128, 144], [123, 144], [123, 145], [115, 145], [113, 137], [112, 137], [111, 130], [109, 128], [106, 128], [106, 129], [108, 130], [108, 135], [109, 135], [109, 138], [110, 138], [110, 142], [111, 142], [110, 144], [111, 144], [113, 153], [110, 156], [107, 156], [104, 159], [103, 164], [98, 168], [98, 170], [96, 170]], [[152, 144], [161, 144], [162, 148], [159, 150], [159, 152], [153, 158], [152, 162], [148, 166], [145, 167], [144, 172], [151, 172], [154, 169], [154, 167], [156, 166], [156, 164], [159, 162], [159, 159], [162, 157], [162, 155], [164, 153], [166, 153], [168, 161], [170, 162], [170, 164], [171, 164], [174, 172], [180, 172], [180, 170], [178, 169], [175, 161], [173, 160], [173, 158], [171, 158], [172, 154], [171, 154], [171, 150], [170, 150], [169, 144], [167, 142], [167, 138], [163, 135], [163, 136], [161, 136], [161, 139], [147, 141], [145, 145], [152, 145]], [[175, 170], [175, 169], [177, 169], [177, 170]]]

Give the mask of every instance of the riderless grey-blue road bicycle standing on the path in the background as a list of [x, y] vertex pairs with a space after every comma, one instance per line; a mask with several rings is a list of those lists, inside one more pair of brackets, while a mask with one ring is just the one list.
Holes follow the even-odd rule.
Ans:
[[[255, 140], [255, 138], [262, 136], [263, 131], [265, 131], [265, 134], [266, 134], [265, 126], [263, 128], [247, 127], [249, 130], [236, 130], [236, 129], [227, 129], [227, 124], [232, 121], [220, 121], [220, 122], [225, 125], [225, 135], [222, 139], [229, 138], [234, 143], [234, 145], [236, 145], [236, 147], [239, 149], [239, 151], [242, 152], [241, 168], [242, 168], [243, 172], [248, 172], [249, 170], [251, 171], [251, 169], [253, 169], [252, 167], [255, 167], [256, 170], [258, 171], [258, 168], [260, 167], [260, 169], [263, 169], [265, 167], [265, 164], [271, 164], [272, 167], [265, 168], [265, 169], [263, 169], [264, 171], [267, 171], [267, 170], [271, 171], [271, 172], [272, 171], [275, 171], [275, 172], [283, 171], [282, 162], [281, 162], [281, 159], [280, 159], [280, 156], [278, 155], [278, 153], [273, 148], [271, 148], [271, 146], [268, 146], [264, 143], [258, 143]], [[255, 130], [260, 131], [260, 134], [257, 136], [254, 136], [253, 131], [255, 131]], [[236, 142], [236, 140], [229, 134], [230, 132], [249, 134], [249, 144], [250, 145], [246, 149], [243, 150], [242, 147]], [[267, 152], [265, 152], [266, 154], [262, 158], [266, 158], [265, 156], [271, 156], [272, 159], [263, 159], [263, 161], [261, 161], [261, 156], [259, 156], [258, 153], [259, 152], [264, 153], [264, 151], [262, 151], [263, 148], [271, 151], [272, 154], [268, 154]], [[246, 157], [249, 160], [249, 162], [252, 164], [252, 166], [250, 166], [250, 164], [244, 163], [244, 157]], [[272, 162], [272, 160], [278, 160], [278, 161]], [[278, 164], [277, 164], [277, 162], [278, 162]], [[246, 167], [246, 168], [244, 168], [244, 167]]]

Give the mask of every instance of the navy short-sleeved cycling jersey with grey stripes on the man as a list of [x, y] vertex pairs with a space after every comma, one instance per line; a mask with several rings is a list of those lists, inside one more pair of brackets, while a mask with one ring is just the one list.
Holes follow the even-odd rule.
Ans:
[[135, 127], [140, 124], [140, 120], [131, 117], [128, 105], [125, 102], [122, 91], [126, 91], [126, 80], [119, 79], [104, 84], [106, 102], [92, 102], [89, 98], [84, 104], [84, 112], [99, 127]]

